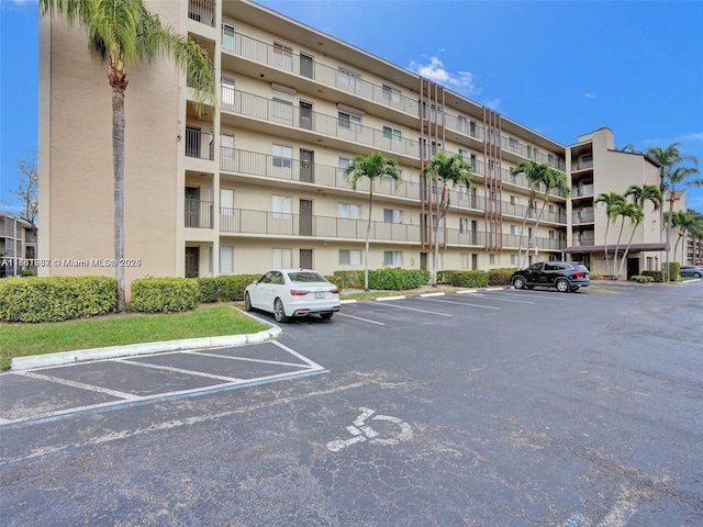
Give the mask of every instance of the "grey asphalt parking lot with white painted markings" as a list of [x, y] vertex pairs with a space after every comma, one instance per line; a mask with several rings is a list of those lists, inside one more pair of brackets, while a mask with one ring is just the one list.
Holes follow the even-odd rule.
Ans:
[[701, 283], [431, 294], [4, 373], [0, 517], [702, 525], [701, 305]]

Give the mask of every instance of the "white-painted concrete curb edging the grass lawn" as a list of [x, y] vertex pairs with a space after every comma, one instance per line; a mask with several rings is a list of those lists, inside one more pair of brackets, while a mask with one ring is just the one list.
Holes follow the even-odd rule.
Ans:
[[[238, 310], [242, 311], [242, 310]], [[62, 351], [58, 354], [32, 355], [29, 357], [14, 357], [10, 371], [24, 371], [34, 368], [51, 366], [65, 366], [90, 360], [115, 359], [120, 357], [135, 357], [140, 355], [153, 355], [163, 351], [186, 351], [192, 349], [222, 348], [224, 346], [244, 346], [246, 344], [259, 344], [277, 338], [282, 329], [263, 318], [242, 312], [252, 318], [271, 326], [259, 333], [249, 335], [223, 335], [217, 337], [186, 338], [180, 340], [166, 340], [158, 343], [131, 344], [127, 346], [110, 346], [107, 348], [79, 349]]]

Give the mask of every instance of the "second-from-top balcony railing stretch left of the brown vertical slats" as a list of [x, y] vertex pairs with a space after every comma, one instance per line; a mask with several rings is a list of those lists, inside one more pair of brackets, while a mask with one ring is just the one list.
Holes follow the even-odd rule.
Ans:
[[417, 141], [395, 137], [382, 130], [362, 126], [339, 116], [325, 115], [308, 108], [293, 106], [232, 88], [222, 88], [222, 111], [258, 119], [276, 126], [308, 130], [317, 135], [359, 143], [415, 159], [420, 157]]

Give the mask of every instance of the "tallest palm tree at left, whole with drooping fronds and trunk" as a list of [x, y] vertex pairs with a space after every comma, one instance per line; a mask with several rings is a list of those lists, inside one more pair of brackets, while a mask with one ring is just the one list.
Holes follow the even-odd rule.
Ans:
[[[127, 66], [172, 57], [196, 88], [197, 110], [214, 102], [215, 85], [208, 53], [192, 38], [161, 24], [144, 0], [40, 0], [42, 16], [56, 14], [88, 34], [90, 51], [108, 61], [112, 88], [112, 159], [114, 177], [114, 257], [124, 259], [124, 94]], [[126, 311], [124, 267], [115, 266], [118, 311]]]

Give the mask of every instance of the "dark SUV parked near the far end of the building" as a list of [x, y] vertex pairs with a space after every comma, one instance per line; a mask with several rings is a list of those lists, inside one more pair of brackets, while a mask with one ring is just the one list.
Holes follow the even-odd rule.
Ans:
[[544, 285], [566, 293], [589, 287], [591, 279], [588, 268], [580, 261], [539, 261], [527, 269], [513, 272], [510, 283], [515, 289]]

